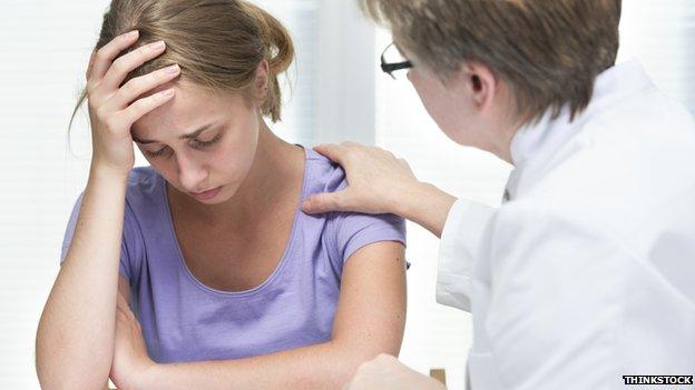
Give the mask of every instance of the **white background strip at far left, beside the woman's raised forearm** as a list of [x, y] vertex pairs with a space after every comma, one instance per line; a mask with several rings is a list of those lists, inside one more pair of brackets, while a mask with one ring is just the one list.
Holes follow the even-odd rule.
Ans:
[[[104, 2], [9, 0], [0, 12], [0, 388], [36, 389], [33, 337], [85, 161], [66, 128]], [[77, 131], [76, 129], [76, 132]], [[77, 137], [78, 139], [80, 137]]]

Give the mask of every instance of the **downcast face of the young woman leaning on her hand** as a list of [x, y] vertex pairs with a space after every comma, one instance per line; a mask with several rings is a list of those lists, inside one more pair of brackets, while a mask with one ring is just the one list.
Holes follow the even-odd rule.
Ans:
[[216, 94], [185, 81], [173, 87], [174, 99], [135, 122], [133, 138], [170, 186], [199, 202], [222, 203], [254, 161], [257, 108], [241, 93]]

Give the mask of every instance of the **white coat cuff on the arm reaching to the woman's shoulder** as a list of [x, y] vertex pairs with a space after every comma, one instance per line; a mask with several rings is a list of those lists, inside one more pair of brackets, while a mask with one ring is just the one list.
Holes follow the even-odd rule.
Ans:
[[437, 301], [470, 311], [473, 260], [496, 208], [459, 199], [453, 203], [439, 247]]

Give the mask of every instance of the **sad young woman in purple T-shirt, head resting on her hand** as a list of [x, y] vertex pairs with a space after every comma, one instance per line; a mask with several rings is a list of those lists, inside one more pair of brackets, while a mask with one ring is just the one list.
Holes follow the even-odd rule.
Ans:
[[[301, 212], [346, 183], [263, 119], [292, 58], [244, 1], [111, 3], [89, 180], [37, 334], [45, 389], [336, 389], [398, 353], [403, 220]], [[133, 169], [133, 141], [151, 167]]]

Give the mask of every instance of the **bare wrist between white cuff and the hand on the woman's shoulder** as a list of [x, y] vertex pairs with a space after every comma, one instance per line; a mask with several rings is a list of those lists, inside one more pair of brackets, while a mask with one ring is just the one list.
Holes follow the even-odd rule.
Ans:
[[433, 184], [419, 183], [393, 204], [397, 214], [420, 224], [441, 238], [449, 210], [456, 201], [457, 198]]

